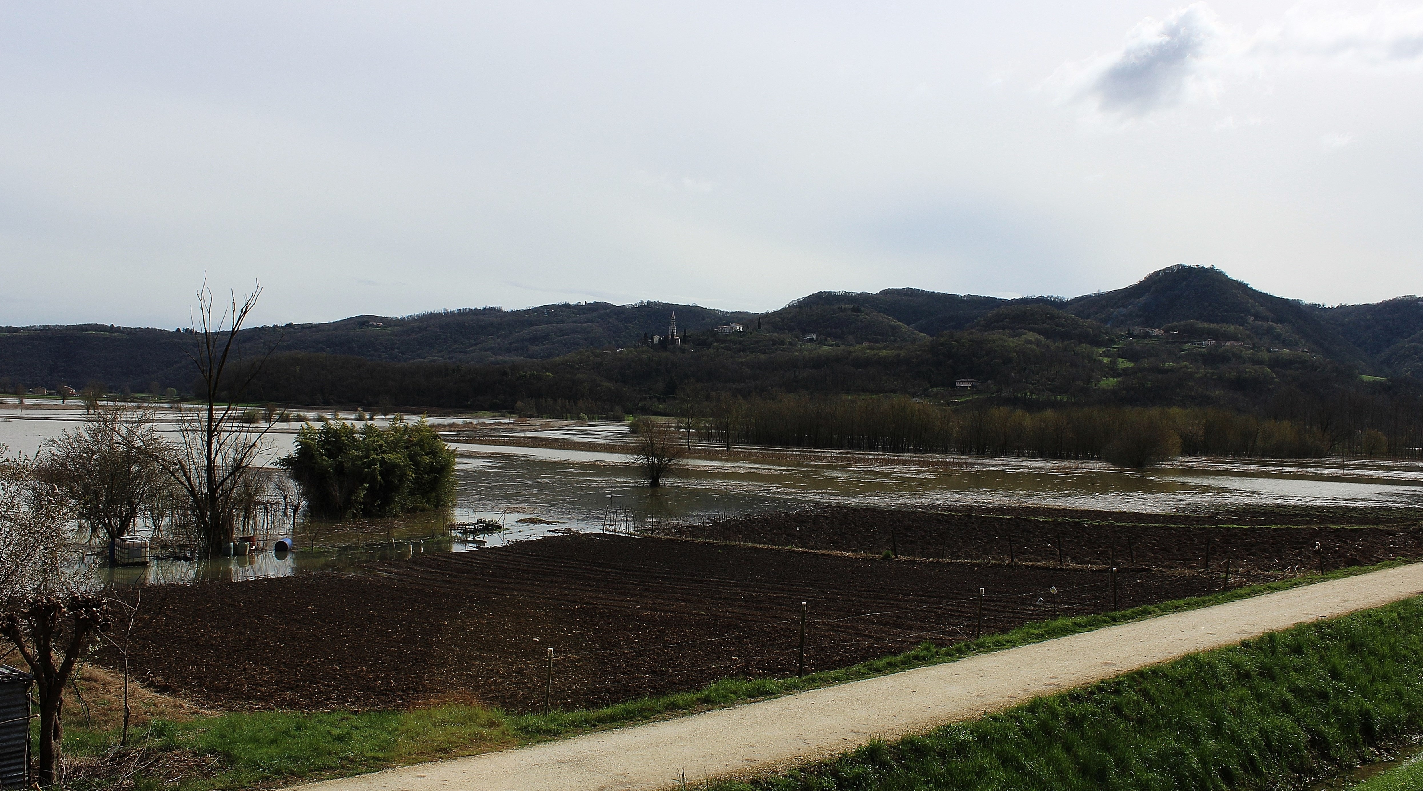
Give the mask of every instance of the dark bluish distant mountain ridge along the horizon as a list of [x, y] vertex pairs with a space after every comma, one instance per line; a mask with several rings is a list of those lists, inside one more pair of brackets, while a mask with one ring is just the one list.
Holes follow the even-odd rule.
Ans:
[[[1171, 266], [1131, 286], [1073, 299], [1000, 299], [921, 289], [818, 292], [764, 314], [696, 304], [558, 303], [522, 310], [461, 309], [410, 317], [253, 327], [249, 354], [280, 339], [280, 351], [383, 361], [484, 364], [545, 360], [583, 349], [618, 349], [666, 334], [740, 323], [832, 343], [916, 343], [943, 331], [1033, 331], [1054, 340], [1106, 343], [1131, 327], [1175, 329], [1257, 344], [1308, 349], [1360, 373], [1423, 378], [1423, 300], [1325, 307], [1278, 297], [1201, 266]], [[0, 327], [0, 390], [13, 384], [81, 387], [90, 380], [141, 390], [151, 381], [185, 388], [192, 336], [157, 329], [73, 324]]]

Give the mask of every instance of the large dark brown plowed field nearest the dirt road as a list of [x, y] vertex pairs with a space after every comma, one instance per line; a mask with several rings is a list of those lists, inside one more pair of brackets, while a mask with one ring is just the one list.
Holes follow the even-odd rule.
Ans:
[[[161, 691], [232, 708], [376, 708], [480, 700], [601, 706], [727, 676], [808, 670], [1054, 612], [1113, 606], [1084, 568], [879, 561], [686, 541], [569, 535], [242, 583], [142, 592], [132, 662]], [[1133, 569], [1118, 606], [1220, 589], [1220, 575]]]

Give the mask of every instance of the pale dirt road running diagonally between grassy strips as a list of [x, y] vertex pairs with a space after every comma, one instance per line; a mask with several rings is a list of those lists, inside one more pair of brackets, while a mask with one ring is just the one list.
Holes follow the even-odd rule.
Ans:
[[521, 750], [307, 785], [322, 791], [657, 790], [828, 757], [1037, 696], [1423, 593], [1423, 563], [835, 687]]

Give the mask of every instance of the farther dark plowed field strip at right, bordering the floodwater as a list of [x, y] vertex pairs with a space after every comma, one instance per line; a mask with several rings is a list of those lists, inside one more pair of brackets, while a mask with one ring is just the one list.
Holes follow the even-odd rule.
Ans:
[[1210, 561], [1211, 569], [1224, 573], [1229, 562], [1232, 569], [1252, 578], [1423, 556], [1423, 512], [1416, 509], [1197, 515], [1033, 508], [963, 512], [822, 508], [676, 525], [659, 532], [737, 543], [875, 555], [891, 551], [899, 556], [996, 563], [1013, 559], [1202, 570]]

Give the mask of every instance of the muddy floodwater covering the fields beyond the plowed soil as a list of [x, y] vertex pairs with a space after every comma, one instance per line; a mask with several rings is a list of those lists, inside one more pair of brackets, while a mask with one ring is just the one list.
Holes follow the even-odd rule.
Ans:
[[[81, 413], [24, 415], [0, 408], [0, 442], [11, 452], [37, 447], [81, 420]], [[458, 423], [445, 420], [443, 424]], [[287, 452], [296, 424], [268, 434], [272, 457]], [[531, 427], [542, 438], [608, 442], [625, 438], [615, 423]], [[165, 430], [175, 430], [174, 424]], [[630, 460], [613, 451], [569, 451], [481, 445], [450, 437], [460, 454], [457, 506], [440, 519], [296, 531], [296, 552], [212, 562], [203, 576], [285, 576], [344, 569], [366, 561], [460, 552], [564, 531], [629, 531], [639, 525], [704, 521], [813, 505], [955, 508], [1046, 505], [1106, 511], [1165, 512], [1232, 505], [1423, 506], [1423, 464], [1308, 460], [1227, 461], [1183, 458], [1153, 469], [1118, 469], [1101, 462], [958, 455], [872, 455], [841, 452], [768, 454], [754, 462], [689, 460], [663, 487], [642, 485]], [[507, 529], [462, 536], [450, 524], [488, 519]], [[536, 519], [546, 524], [519, 524]], [[155, 562], [115, 578], [179, 582], [198, 576], [196, 563]]]

